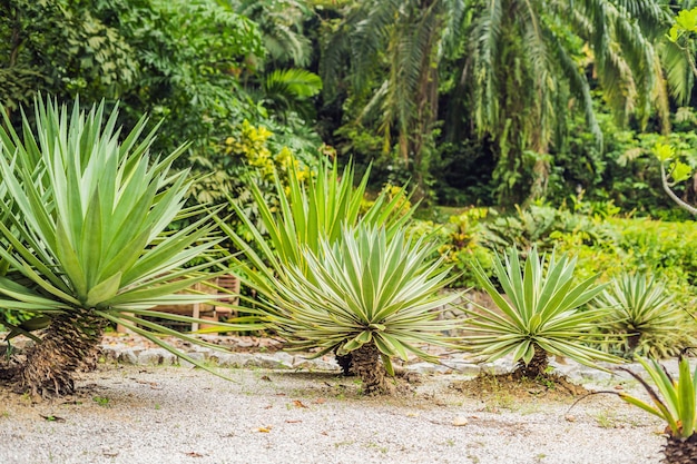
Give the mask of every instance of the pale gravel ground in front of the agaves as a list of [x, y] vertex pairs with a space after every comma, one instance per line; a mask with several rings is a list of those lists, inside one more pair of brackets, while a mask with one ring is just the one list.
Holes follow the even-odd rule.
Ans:
[[[32, 404], [0, 389], [0, 463], [658, 463], [661, 424], [616, 396], [453, 389], [363, 397], [335, 371], [100, 365], [73, 397]], [[573, 379], [573, 378], [571, 378]], [[588, 382], [587, 377], [577, 378]], [[593, 379], [598, 388], [627, 381]], [[638, 392], [638, 391], [637, 391]]]

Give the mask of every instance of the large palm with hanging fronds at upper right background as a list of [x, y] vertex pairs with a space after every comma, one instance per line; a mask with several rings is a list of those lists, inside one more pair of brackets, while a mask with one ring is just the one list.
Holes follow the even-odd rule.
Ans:
[[[468, 120], [477, 134], [498, 145], [501, 203], [544, 194], [547, 154], [560, 148], [570, 107], [580, 106], [601, 146], [585, 62], [592, 65], [605, 102], [620, 120], [636, 115], [645, 124], [658, 101], [667, 121], [652, 39], [664, 32], [668, 17], [658, 1], [492, 0], [471, 8], [462, 24], [465, 51], [455, 95], [468, 96]], [[521, 176], [526, 168], [531, 186]]]

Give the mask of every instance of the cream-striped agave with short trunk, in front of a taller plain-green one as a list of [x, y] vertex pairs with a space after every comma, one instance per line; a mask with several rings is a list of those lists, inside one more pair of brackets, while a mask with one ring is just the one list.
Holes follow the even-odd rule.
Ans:
[[321, 348], [313, 357], [352, 354], [365, 392], [389, 392], [392, 358], [435, 362], [419, 345], [445, 344], [441, 332], [452, 328], [439, 318], [457, 295], [439, 293], [450, 268], [433, 259], [438, 246], [359, 223], [317, 251], [303, 247], [305, 267], [288, 266], [276, 283], [278, 333], [295, 349]]

